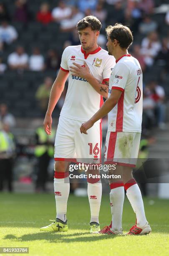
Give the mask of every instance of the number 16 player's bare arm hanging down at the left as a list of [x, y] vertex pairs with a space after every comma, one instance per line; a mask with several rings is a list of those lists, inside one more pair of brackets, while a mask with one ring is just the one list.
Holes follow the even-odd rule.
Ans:
[[63, 70], [59, 70], [58, 76], [53, 83], [50, 98], [48, 103], [48, 110], [45, 115], [45, 120], [43, 122], [43, 127], [45, 132], [50, 135], [51, 134], [51, 125], [52, 125], [52, 113], [55, 108], [56, 103], [58, 102], [59, 98], [65, 87], [66, 79], [68, 78], [69, 72], [65, 72]]

